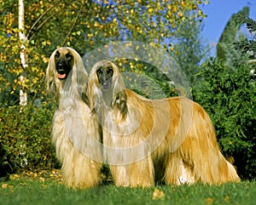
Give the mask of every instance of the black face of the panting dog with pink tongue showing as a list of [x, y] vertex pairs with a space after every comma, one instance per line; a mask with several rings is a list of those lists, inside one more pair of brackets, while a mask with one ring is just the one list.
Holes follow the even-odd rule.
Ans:
[[68, 49], [60, 49], [55, 53], [55, 66], [58, 78], [64, 80], [72, 70], [74, 64], [73, 54]]

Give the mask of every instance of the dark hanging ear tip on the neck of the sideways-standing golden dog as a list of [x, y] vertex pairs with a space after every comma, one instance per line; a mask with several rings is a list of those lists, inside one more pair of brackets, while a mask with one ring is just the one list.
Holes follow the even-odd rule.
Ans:
[[125, 93], [125, 89], [120, 91], [119, 93], [115, 94], [111, 106], [113, 110], [118, 110], [124, 116], [126, 115], [128, 108], [127, 108], [127, 96]]

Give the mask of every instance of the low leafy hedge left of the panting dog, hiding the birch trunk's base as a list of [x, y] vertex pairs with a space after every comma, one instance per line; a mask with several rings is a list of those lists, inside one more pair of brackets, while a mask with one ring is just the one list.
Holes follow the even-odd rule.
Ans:
[[47, 107], [0, 108], [1, 175], [55, 166], [50, 138], [52, 115]]

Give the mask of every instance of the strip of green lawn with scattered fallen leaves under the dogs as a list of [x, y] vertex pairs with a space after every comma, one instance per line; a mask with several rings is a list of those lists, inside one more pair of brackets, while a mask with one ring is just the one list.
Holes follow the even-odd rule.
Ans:
[[[153, 200], [154, 189], [164, 193]], [[100, 185], [73, 190], [52, 179], [9, 179], [0, 184], [2, 205], [256, 204], [256, 181], [225, 185], [163, 185], [148, 189]]]

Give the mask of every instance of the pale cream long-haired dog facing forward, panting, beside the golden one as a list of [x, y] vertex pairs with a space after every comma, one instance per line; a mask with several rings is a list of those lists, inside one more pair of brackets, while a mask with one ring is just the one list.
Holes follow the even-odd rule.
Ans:
[[46, 87], [55, 97], [52, 140], [65, 183], [84, 189], [101, 182], [101, 128], [90, 112], [88, 75], [73, 48], [57, 48], [50, 55]]

